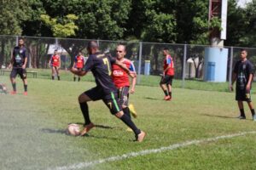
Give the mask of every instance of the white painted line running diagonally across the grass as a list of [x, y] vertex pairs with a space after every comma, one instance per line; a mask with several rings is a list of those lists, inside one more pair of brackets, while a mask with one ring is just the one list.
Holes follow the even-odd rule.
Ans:
[[81, 162], [81, 163], [77, 163], [77, 164], [73, 164], [71, 166], [64, 166], [64, 167], [55, 167], [55, 168], [49, 168], [49, 170], [72, 170], [72, 169], [81, 169], [84, 167], [92, 167], [95, 166], [97, 164], [101, 164], [101, 163], [105, 163], [108, 161], [120, 161], [120, 160], [124, 160], [124, 159], [128, 159], [131, 157], [137, 157], [137, 156], [145, 156], [148, 154], [152, 154], [152, 153], [160, 153], [166, 150], [175, 150], [177, 148], [182, 148], [185, 146], [189, 146], [192, 144], [201, 144], [201, 143], [205, 143], [205, 142], [214, 142], [217, 141], [219, 139], [230, 139], [230, 138], [234, 138], [237, 136], [244, 136], [246, 134], [255, 134], [256, 131], [252, 131], [252, 132], [244, 132], [244, 133], [234, 133], [234, 134], [228, 134], [228, 135], [223, 135], [223, 136], [217, 136], [214, 138], [209, 138], [209, 139], [201, 139], [201, 140], [190, 140], [187, 142], [183, 142], [183, 143], [179, 143], [179, 144], [171, 144], [169, 146], [166, 147], [161, 147], [159, 149], [152, 149], [152, 150], [142, 150], [139, 152], [131, 152], [131, 153], [127, 153], [121, 156], [111, 156], [105, 159], [100, 159], [97, 161], [88, 161], [88, 162]]

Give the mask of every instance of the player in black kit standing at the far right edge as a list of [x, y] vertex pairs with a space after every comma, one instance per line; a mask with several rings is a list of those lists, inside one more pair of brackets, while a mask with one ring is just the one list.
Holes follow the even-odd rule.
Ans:
[[251, 110], [253, 121], [256, 121], [256, 115], [253, 108], [253, 102], [251, 99], [251, 88], [253, 82], [253, 64], [247, 59], [247, 50], [242, 49], [240, 54], [240, 60], [236, 62], [232, 83], [230, 89], [233, 91], [233, 84], [236, 81], [236, 100], [240, 109], [240, 119], [246, 119], [243, 101], [247, 101], [247, 104]]

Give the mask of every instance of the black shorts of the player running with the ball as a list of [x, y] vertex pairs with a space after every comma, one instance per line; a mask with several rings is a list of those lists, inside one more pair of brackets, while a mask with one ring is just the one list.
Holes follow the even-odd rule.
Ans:
[[122, 107], [119, 105], [117, 91], [109, 92], [106, 94], [101, 87], [96, 86], [95, 88], [91, 88], [90, 90], [85, 91], [84, 94], [86, 94], [93, 101], [102, 99], [113, 115], [119, 111], [122, 111]]

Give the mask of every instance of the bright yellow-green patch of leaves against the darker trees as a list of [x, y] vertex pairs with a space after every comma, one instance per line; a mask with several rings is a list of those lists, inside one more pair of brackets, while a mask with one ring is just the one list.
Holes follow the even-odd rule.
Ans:
[[61, 23], [57, 19], [51, 19], [47, 14], [41, 14], [41, 19], [51, 28], [55, 37], [74, 36], [75, 30], [79, 29], [78, 26], [75, 26], [74, 20], [78, 20], [78, 17], [74, 14], [67, 14]]

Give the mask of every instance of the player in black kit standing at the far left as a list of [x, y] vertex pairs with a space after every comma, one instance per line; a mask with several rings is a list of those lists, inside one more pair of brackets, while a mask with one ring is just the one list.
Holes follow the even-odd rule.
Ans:
[[24, 95], [27, 95], [26, 62], [27, 56], [26, 48], [24, 47], [24, 40], [20, 38], [19, 45], [13, 50], [11, 63], [9, 65], [9, 67], [12, 67], [10, 82], [12, 83], [13, 91], [11, 91], [11, 94], [17, 94], [15, 77], [19, 74], [24, 85]]

